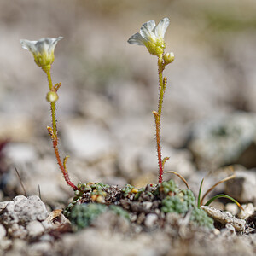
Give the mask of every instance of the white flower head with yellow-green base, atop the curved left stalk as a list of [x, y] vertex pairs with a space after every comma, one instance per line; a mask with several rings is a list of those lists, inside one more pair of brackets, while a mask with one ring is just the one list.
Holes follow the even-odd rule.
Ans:
[[26, 39], [20, 39], [20, 43], [23, 49], [27, 49], [32, 52], [35, 62], [39, 67], [50, 66], [55, 60], [55, 46], [60, 41], [59, 38], [42, 38], [38, 41], [29, 41]]

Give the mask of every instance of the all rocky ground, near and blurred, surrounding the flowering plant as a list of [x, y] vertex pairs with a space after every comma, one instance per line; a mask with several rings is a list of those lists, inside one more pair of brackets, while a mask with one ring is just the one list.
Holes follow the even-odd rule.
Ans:
[[[256, 5], [249, 0], [232, 6], [229, 1], [158, 3], [1, 1], [4, 255], [256, 253]], [[126, 41], [143, 22], [166, 16], [171, 20], [166, 49], [176, 56], [165, 71], [161, 134], [163, 155], [170, 157], [166, 171], [183, 175], [195, 197], [203, 177], [205, 192], [235, 172], [236, 178], [218, 185], [211, 196], [230, 195], [245, 211], [230, 201], [213, 202], [217, 210], [205, 209], [215, 219], [215, 228], [209, 230], [191, 224], [191, 212], [183, 217], [161, 212], [161, 202], [153, 207], [160, 212], [154, 212], [149, 207], [154, 201], [147, 199], [135, 213], [127, 202], [115, 201], [131, 213], [129, 220], [105, 209], [76, 231], [61, 214], [73, 191], [61, 177], [45, 128], [50, 124], [46, 78], [19, 40], [64, 37], [55, 49], [53, 80], [62, 82], [57, 102], [60, 148], [63, 156], [71, 156], [67, 169], [73, 183], [101, 182], [119, 190], [130, 183], [140, 189], [157, 183], [152, 115], [157, 108], [157, 72], [154, 57]], [[165, 174], [165, 181], [170, 178], [186, 188], [178, 177]], [[122, 196], [119, 200], [125, 200]], [[84, 202], [91, 201], [85, 196]], [[127, 201], [137, 204], [132, 197]]]

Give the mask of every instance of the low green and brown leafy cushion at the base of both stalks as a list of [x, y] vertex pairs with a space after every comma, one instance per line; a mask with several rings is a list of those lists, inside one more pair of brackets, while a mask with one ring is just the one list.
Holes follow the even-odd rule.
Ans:
[[[148, 214], [148, 211], [156, 209], [163, 213], [176, 212], [181, 218], [189, 212], [191, 223], [213, 227], [212, 218], [196, 206], [193, 192], [189, 189], [179, 189], [173, 180], [148, 184], [142, 189], [136, 189], [130, 184], [118, 189], [103, 183], [81, 183], [79, 188], [82, 191], [76, 192], [73, 202], [64, 210], [64, 215], [71, 221], [74, 230], [89, 226], [105, 211], [112, 211], [131, 220], [133, 214]], [[152, 207], [146, 208], [143, 202], [151, 202]]]

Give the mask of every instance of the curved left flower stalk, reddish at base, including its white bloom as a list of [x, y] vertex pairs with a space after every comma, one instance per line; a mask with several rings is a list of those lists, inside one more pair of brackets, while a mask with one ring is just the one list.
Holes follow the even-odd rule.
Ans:
[[57, 121], [56, 121], [56, 113], [55, 113], [55, 102], [58, 100], [59, 96], [57, 95], [57, 90], [61, 87], [61, 83], [53, 85], [50, 68], [51, 64], [55, 60], [54, 50], [55, 46], [60, 41], [62, 37], [59, 38], [42, 38], [38, 41], [29, 41], [25, 39], [21, 39], [20, 43], [22, 48], [27, 49], [32, 52], [34, 57], [34, 61], [41, 67], [44, 73], [46, 73], [48, 84], [49, 84], [49, 92], [47, 93], [46, 99], [50, 103], [50, 111], [51, 111], [51, 122], [52, 127], [47, 127], [49, 132], [49, 136], [51, 137], [53, 148], [55, 151], [55, 157], [58, 162], [58, 165], [61, 168], [61, 172], [65, 181], [69, 186], [71, 186], [74, 190], [79, 190], [70, 180], [67, 172], [67, 158], [66, 156], [61, 161], [59, 148], [58, 148], [58, 131], [57, 131]]

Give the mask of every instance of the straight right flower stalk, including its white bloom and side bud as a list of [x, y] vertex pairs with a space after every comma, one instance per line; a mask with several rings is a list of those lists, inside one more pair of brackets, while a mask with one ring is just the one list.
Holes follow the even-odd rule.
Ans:
[[163, 71], [166, 65], [174, 61], [173, 53], [166, 53], [166, 43], [164, 41], [164, 36], [166, 29], [169, 26], [170, 20], [164, 18], [160, 20], [160, 23], [156, 26], [154, 20], [150, 20], [143, 24], [139, 33], [134, 34], [129, 38], [129, 44], [144, 45], [148, 49], [151, 55], [156, 55], [158, 57], [158, 75], [159, 75], [159, 102], [158, 111], [153, 111], [154, 122], [155, 122], [155, 140], [158, 156], [158, 166], [159, 166], [159, 183], [163, 181], [164, 165], [168, 157], [162, 160], [161, 155], [161, 145], [160, 145], [160, 125], [161, 125], [161, 114], [163, 108], [164, 95], [166, 92], [167, 78], [163, 78]]

